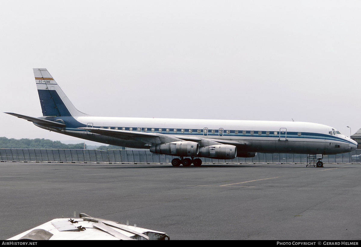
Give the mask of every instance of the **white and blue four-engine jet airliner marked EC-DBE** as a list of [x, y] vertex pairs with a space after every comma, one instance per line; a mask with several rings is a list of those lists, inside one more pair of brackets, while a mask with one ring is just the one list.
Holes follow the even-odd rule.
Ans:
[[[234, 159], [256, 153], [339, 154], [357, 142], [323, 124], [282, 121], [125, 118], [78, 111], [49, 74], [33, 69], [43, 116], [7, 113], [36, 126], [104, 144], [179, 156], [172, 166], [201, 166], [199, 157]], [[323, 167], [319, 159], [317, 167]]]

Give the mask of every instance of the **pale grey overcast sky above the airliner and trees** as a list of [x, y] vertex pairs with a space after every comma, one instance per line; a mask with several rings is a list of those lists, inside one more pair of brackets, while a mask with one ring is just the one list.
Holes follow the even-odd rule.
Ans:
[[[0, 1], [0, 111], [42, 116], [32, 68], [98, 116], [361, 128], [360, 1]], [[0, 114], [0, 136], [77, 140]]]

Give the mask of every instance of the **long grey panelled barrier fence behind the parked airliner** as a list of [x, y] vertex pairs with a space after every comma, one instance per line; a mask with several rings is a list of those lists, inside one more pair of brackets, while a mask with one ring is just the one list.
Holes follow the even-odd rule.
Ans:
[[[1, 161], [170, 163], [175, 157], [153, 154], [149, 150], [0, 149]], [[200, 159], [203, 163], [306, 163], [307, 155], [257, 153], [252, 158]], [[322, 161], [323, 163], [358, 163], [361, 162], [361, 149], [345, 154], [323, 155]]]

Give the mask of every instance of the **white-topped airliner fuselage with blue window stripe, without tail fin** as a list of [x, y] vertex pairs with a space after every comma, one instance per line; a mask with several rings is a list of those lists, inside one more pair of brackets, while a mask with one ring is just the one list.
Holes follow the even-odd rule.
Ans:
[[[72, 118], [70, 121], [68, 118]], [[337, 154], [355, 150], [357, 143], [327, 125], [306, 122], [117, 118], [96, 116], [46, 117], [62, 119], [66, 128], [57, 131], [87, 140], [133, 148], [149, 148], [139, 139], [122, 140], [93, 134], [79, 127], [162, 133], [177, 138], [201, 137], [230, 142], [239, 152]], [[75, 120], [75, 121], [74, 121]], [[79, 123], [78, 126], [76, 123]], [[39, 126], [39, 125], [38, 125]], [[39, 126], [49, 129], [48, 127]], [[54, 129], [51, 129], [54, 131]], [[335, 134], [334, 134], [335, 133]]]

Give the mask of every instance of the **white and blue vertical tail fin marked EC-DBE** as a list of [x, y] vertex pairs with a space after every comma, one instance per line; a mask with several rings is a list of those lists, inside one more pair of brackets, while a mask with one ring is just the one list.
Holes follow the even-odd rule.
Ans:
[[47, 69], [33, 69], [43, 116], [87, 116], [78, 111]]

